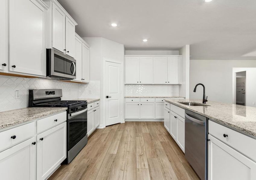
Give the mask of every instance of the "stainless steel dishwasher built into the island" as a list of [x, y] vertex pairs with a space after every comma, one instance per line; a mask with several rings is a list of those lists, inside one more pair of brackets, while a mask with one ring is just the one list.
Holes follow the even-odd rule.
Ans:
[[200, 179], [207, 180], [208, 118], [185, 110], [185, 158]]

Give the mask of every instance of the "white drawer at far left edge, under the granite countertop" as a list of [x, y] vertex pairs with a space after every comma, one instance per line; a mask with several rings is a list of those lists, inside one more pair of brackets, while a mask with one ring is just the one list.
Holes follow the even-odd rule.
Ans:
[[14, 144], [21, 143], [22, 141], [33, 137], [35, 134], [35, 122], [3, 131], [0, 133], [0, 151], [13, 146]]

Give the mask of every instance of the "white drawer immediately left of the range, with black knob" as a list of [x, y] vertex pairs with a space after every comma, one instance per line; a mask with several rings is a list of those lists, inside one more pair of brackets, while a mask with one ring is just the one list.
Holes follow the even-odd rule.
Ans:
[[59, 125], [67, 120], [67, 112], [58, 113], [47, 118], [37, 120], [37, 133], [45, 131], [46, 129], [52, 128], [53, 126]]

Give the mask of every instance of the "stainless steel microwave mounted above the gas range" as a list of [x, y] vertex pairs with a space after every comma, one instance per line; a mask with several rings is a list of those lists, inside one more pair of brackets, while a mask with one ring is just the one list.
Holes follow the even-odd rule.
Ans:
[[76, 60], [56, 49], [46, 49], [46, 77], [76, 79]]

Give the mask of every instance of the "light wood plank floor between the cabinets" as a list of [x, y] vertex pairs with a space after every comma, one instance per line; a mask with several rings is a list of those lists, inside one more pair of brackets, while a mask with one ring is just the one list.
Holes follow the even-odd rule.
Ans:
[[199, 179], [163, 122], [125, 122], [96, 129], [88, 144], [49, 180]]

